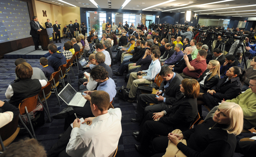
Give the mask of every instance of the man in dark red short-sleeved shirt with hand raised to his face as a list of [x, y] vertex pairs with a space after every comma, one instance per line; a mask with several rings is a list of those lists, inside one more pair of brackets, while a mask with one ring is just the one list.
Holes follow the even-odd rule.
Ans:
[[199, 50], [197, 53], [197, 58], [191, 60], [190, 62], [187, 55], [184, 55], [184, 60], [187, 67], [183, 69], [183, 72], [180, 75], [184, 79], [198, 79], [207, 68], [206, 57], [207, 52], [205, 50]]

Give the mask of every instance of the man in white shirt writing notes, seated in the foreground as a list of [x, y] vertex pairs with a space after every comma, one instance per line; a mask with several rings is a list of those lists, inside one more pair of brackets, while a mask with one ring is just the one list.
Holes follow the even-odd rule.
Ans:
[[66, 130], [47, 157], [108, 157], [115, 152], [122, 132], [120, 108], [108, 110], [110, 98], [105, 91], [84, 97], [91, 99], [95, 117], [86, 118], [84, 122], [75, 119], [73, 128]]

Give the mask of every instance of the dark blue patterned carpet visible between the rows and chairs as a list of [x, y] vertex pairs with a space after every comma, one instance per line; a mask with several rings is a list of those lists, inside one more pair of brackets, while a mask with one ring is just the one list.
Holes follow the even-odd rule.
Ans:
[[[63, 47], [64, 40], [62, 39], [62, 43], [58, 43], [57, 46]], [[63, 50], [60, 50], [63, 51]], [[113, 53], [114, 56], [114, 53]], [[42, 69], [42, 66], [39, 64], [39, 60], [35, 59], [26, 59], [28, 63], [32, 67], [39, 67]], [[11, 83], [13, 83], [13, 80], [15, 79], [15, 68], [14, 65], [15, 59], [2, 59], [0, 60], [0, 65], [4, 66], [5, 68], [9, 69], [6, 70], [3, 67], [0, 67], [0, 100], [7, 100], [4, 93]], [[112, 66], [113, 72], [117, 72], [119, 63]], [[71, 71], [69, 72], [70, 78], [71, 78], [71, 84], [75, 88], [75, 90], [78, 91], [78, 73], [75, 69], [75, 66], [73, 66], [74, 72], [75, 72], [75, 78], [72, 78]], [[79, 67], [79, 71], [81, 71], [81, 66]], [[122, 85], [126, 85], [124, 81], [125, 76], [113, 76], [113, 80], [116, 83], [116, 89], [120, 88]], [[67, 79], [65, 79], [67, 80]], [[62, 111], [66, 104], [60, 100], [61, 107], [59, 107], [58, 101], [56, 99], [55, 94], [51, 94], [49, 99], [47, 100], [49, 105], [49, 111], [50, 116], [55, 115], [56, 113], [59, 113]], [[138, 123], [133, 123], [130, 121], [131, 118], [135, 118], [135, 110], [137, 103], [131, 104], [128, 102], [125, 102], [121, 100], [118, 96], [114, 98], [113, 106], [121, 108], [122, 111], [122, 134], [121, 138], [118, 143], [118, 152], [116, 157], [144, 157], [143, 155], [139, 154], [134, 147], [134, 144], [139, 144], [138, 141], [135, 140], [135, 138], [131, 135], [132, 132], [135, 132], [139, 129]], [[203, 117], [207, 115], [208, 111], [203, 107]], [[46, 114], [45, 114], [45, 120], [46, 123], [44, 126], [41, 126], [39, 128], [35, 128], [36, 132], [36, 138], [43, 144], [46, 151], [48, 151], [53, 144], [56, 143], [56, 141], [59, 139], [58, 135], [63, 132], [63, 126], [64, 126], [64, 119], [52, 119], [52, 122], [49, 122]], [[244, 137], [252, 137], [254, 134], [252, 133], [242, 133], [237, 136], [238, 139], [244, 138]], [[29, 137], [27, 133], [20, 133], [15, 141], [18, 141], [21, 138]], [[234, 157], [241, 157], [243, 155], [241, 154], [235, 154]]]

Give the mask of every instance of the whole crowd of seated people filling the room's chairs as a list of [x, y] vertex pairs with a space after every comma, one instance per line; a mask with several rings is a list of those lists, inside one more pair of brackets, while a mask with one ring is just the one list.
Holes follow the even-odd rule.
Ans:
[[[83, 57], [89, 55], [89, 64], [79, 72], [78, 78], [79, 90], [85, 94], [83, 98], [87, 101], [84, 107], [68, 106], [53, 116], [54, 119], [65, 119], [66, 132], [59, 135], [59, 141], [48, 152], [48, 156], [109, 156], [115, 151], [121, 135], [121, 110], [108, 110], [109, 103], [117, 93], [112, 74], [126, 75], [126, 88], [129, 90], [127, 101], [138, 103], [138, 115], [131, 118], [131, 122], [140, 125], [140, 129], [132, 133], [140, 142], [135, 144], [139, 153], [148, 156], [154, 154], [154, 157], [167, 156], [172, 151], [171, 147], [174, 147], [187, 157], [207, 154], [232, 157], [238, 147], [240, 152], [246, 154], [243, 148], [251, 144], [238, 142], [236, 145], [236, 135], [242, 129], [256, 127], [256, 58], [253, 57], [250, 68], [243, 70], [234, 55], [225, 56], [217, 47], [211, 52], [208, 45], [195, 39], [183, 40], [181, 36], [173, 36], [168, 41], [167, 38], [161, 38], [164, 34], [161, 26], [159, 32], [148, 30], [145, 33], [143, 24], [138, 25], [137, 29], [134, 25], [128, 26], [128, 30], [125, 29], [128, 24], [125, 25], [121, 27], [121, 23], [117, 26], [107, 22], [106, 34], [102, 35], [101, 41], [91, 30], [87, 38], [79, 35], [72, 38], [71, 43], [64, 43], [63, 52], [59, 52], [55, 44], [49, 44], [51, 57], [48, 60], [40, 59], [44, 77], [49, 80], [49, 76], [58, 71], [59, 66], [72, 58], [73, 51], [80, 51], [89, 42], [96, 44], [95, 53], [89, 55], [90, 46], [83, 51]], [[116, 31], [112, 31], [111, 26], [115, 26]], [[189, 31], [192, 32], [191, 29]], [[90, 40], [92, 37], [94, 41]], [[112, 57], [115, 51], [116, 55]], [[118, 62], [121, 64], [117, 71], [112, 71], [111, 65]], [[30, 71], [30, 74], [21, 75], [19, 72], [24, 69], [28, 69], [26, 72]], [[31, 69], [28, 63], [19, 63], [16, 67], [18, 80], [7, 88], [6, 97], [15, 107], [24, 98], [38, 94], [46, 85], [47, 79], [32, 78]], [[139, 86], [151, 85], [157, 77], [163, 80], [159, 90], [141, 94]], [[26, 81], [33, 87], [22, 84]], [[29, 95], [19, 93], [21, 88], [30, 89], [26, 92]], [[0, 107], [2, 104], [0, 101]], [[5, 105], [7, 102], [2, 106]], [[211, 111], [202, 124], [190, 129], [198, 114], [203, 119], [202, 105]], [[10, 111], [13, 116], [9, 121], [17, 112]], [[6, 110], [6, 114], [12, 115], [10, 111]], [[74, 113], [85, 118], [85, 121], [76, 119]], [[112, 126], [113, 123], [115, 126]], [[174, 133], [175, 129], [180, 131]], [[102, 135], [104, 138], [101, 138]], [[183, 140], [187, 140], [187, 145], [183, 144]], [[112, 147], [100, 149], [106, 142], [111, 142]]]

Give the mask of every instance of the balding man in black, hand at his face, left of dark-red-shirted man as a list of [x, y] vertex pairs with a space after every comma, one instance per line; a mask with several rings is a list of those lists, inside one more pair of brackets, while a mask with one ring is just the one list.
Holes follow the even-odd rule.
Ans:
[[[191, 57], [191, 53], [192, 53], [192, 48], [191, 47], [186, 47], [185, 50], [183, 50], [183, 54], [187, 54], [188, 60], [191, 61], [192, 57]], [[172, 69], [172, 71], [177, 72], [177, 73], [182, 73], [183, 69], [186, 67], [186, 62], [184, 60], [184, 58], [182, 58], [178, 63], [169, 66], [169, 68]]]

